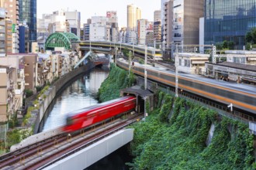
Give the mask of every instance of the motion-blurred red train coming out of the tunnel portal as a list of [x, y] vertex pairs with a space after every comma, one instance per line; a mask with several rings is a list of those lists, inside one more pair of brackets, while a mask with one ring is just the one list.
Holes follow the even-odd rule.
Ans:
[[135, 110], [135, 107], [136, 97], [126, 96], [95, 106], [74, 110], [67, 116], [67, 124], [64, 126], [64, 131], [77, 131], [118, 114]]

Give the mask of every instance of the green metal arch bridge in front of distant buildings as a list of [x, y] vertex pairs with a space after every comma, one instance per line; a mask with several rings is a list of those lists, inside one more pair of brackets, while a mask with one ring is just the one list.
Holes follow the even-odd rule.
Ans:
[[71, 32], [54, 32], [48, 36], [45, 42], [45, 49], [54, 49], [54, 47], [64, 47], [71, 49], [71, 42], [79, 41], [78, 36]]

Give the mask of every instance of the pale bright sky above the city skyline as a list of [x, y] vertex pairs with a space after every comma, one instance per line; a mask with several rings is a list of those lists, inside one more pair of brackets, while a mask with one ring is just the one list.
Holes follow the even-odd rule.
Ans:
[[127, 24], [127, 5], [137, 5], [141, 9], [142, 19], [154, 21], [154, 11], [161, 9], [161, 0], [37, 0], [37, 18], [43, 14], [64, 9], [81, 12], [81, 23], [92, 16], [106, 16], [106, 11], [116, 11], [119, 27]]

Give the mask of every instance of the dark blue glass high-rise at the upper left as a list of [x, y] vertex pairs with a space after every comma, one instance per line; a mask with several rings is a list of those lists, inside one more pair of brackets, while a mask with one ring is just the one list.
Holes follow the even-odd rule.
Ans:
[[36, 0], [19, 0], [19, 22], [26, 22], [29, 26], [29, 49], [31, 49], [31, 42], [36, 42]]

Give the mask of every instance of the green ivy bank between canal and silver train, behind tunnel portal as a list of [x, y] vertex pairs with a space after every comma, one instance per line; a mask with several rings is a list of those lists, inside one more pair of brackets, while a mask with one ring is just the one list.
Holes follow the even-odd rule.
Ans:
[[122, 70], [114, 64], [111, 64], [109, 76], [99, 88], [99, 101], [104, 102], [119, 97], [119, 90], [131, 87], [135, 79], [136, 77], [133, 73], [130, 73], [130, 76], [128, 76], [126, 70]]

